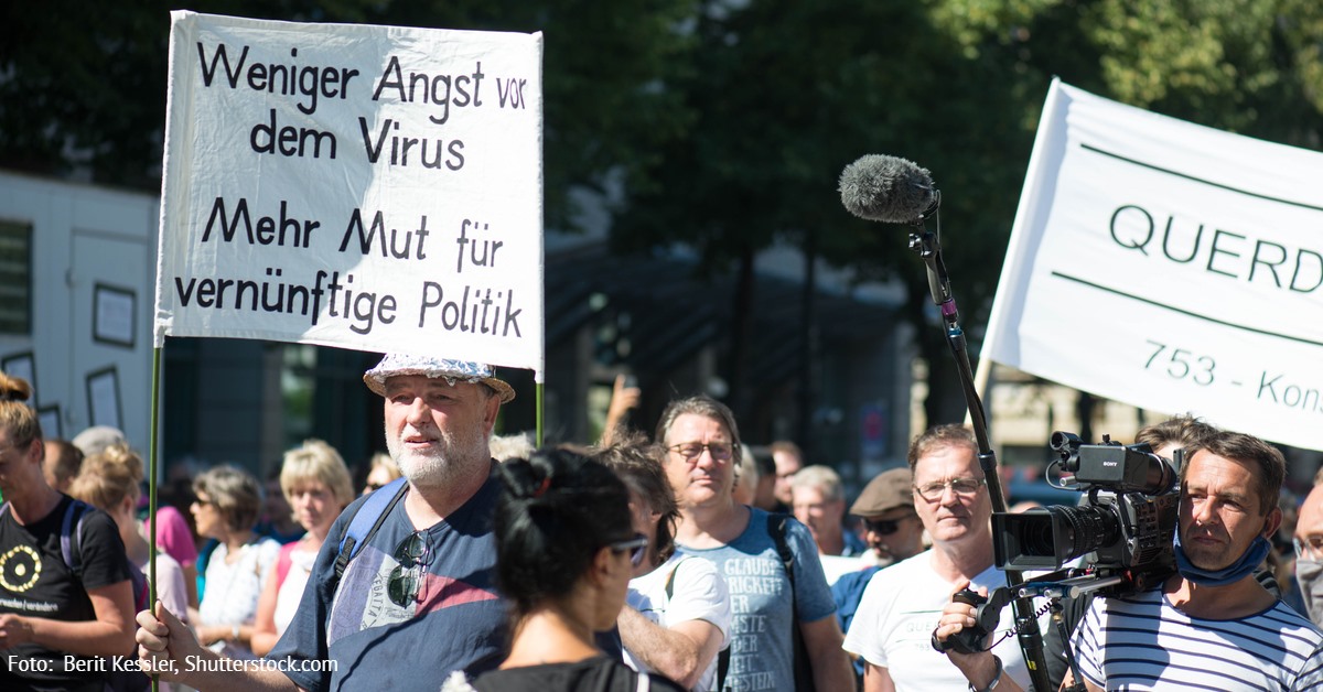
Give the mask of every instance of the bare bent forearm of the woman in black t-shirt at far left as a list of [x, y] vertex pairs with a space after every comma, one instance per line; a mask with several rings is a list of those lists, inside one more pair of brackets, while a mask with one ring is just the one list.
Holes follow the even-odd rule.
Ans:
[[128, 580], [87, 589], [94, 621], [0, 615], [0, 650], [33, 643], [82, 656], [127, 656], [134, 651], [134, 589]]

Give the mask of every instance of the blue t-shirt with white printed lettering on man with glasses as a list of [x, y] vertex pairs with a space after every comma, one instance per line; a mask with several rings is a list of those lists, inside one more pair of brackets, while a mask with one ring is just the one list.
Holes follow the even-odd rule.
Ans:
[[786, 545], [794, 557], [795, 594], [767, 532], [767, 512], [750, 507], [744, 533], [720, 548], [679, 545], [685, 554], [710, 560], [730, 590], [730, 668], [726, 685], [740, 691], [794, 692], [795, 666], [791, 639], [791, 602], [803, 622], [816, 622], [836, 613], [827, 587], [818, 545], [808, 528], [786, 521]]

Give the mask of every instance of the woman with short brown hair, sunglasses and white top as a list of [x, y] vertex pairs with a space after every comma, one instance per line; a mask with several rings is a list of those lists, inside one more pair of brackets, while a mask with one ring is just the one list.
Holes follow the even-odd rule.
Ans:
[[280, 554], [279, 542], [254, 531], [262, 491], [251, 474], [217, 466], [193, 480], [193, 495], [197, 533], [220, 541], [206, 561], [197, 639], [230, 658], [251, 659], [258, 597]]

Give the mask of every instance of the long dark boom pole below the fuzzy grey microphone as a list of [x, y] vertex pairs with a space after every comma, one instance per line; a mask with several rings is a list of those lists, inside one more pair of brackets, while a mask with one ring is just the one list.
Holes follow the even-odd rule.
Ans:
[[[960, 388], [964, 392], [964, 404], [970, 410], [970, 421], [974, 427], [974, 439], [979, 446], [979, 467], [987, 480], [988, 496], [992, 500], [994, 512], [1005, 512], [1005, 496], [1002, 494], [1002, 475], [998, 472], [996, 454], [992, 451], [992, 442], [988, 437], [987, 414], [983, 409], [983, 400], [979, 398], [978, 388], [974, 385], [974, 369], [970, 368], [970, 352], [964, 339], [964, 329], [959, 324], [959, 311], [955, 307], [955, 295], [951, 292], [951, 279], [946, 273], [946, 262], [942, 259], [942, 220], [938, 214], [942, 206], [941, 191], [934, 191], [933, 204], [914, 221], [919, 230], [910, 233], [909, 247], [918, 253], [927, 267], [927, 287], [933, 294], [933, 303], [942, 312], [946, 322], [946, 343], [951, 348], [955, 359], [955, 368], [960, 374]], [[923, 222], [934, 218], [935, 232], [927, 230]], [[1005, 584], [1011, 590], [1023, 584], [1019, 570], [1005, 570]], [[1013, 602], [1015, 630], [1020, 640], [1020, 651], [1024, 652], [1024, 663], [1029, 668], [1029, 680], [1035, 689], [1048, 689], [1048, 664], [1043, 652], [1043, 632], [1037, 628], [1037, 618], [1033, 617], [1033, 601], [1029, 597], [1017, 597]]]

